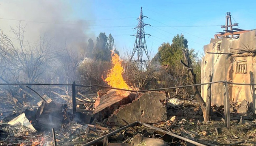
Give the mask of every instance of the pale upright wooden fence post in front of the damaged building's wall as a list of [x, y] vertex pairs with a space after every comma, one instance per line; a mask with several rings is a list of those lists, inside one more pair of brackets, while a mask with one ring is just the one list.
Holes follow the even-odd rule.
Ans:
[[224, 116], [225, 116], [225, 125], [227, 128], [230, 128], [230, 101], [229, 101], [229, 92], [228, 92], [228, 82], [224, 83]]

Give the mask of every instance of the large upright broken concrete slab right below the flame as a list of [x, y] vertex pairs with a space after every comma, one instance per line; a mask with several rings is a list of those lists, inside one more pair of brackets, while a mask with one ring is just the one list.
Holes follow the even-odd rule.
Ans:
[[110, 125], [127, 125], [141, 121], [156, 123], [167, 120], [166, 94], [164, 92], [139, 93], [132, 103], [121, 106], [109, 118]]

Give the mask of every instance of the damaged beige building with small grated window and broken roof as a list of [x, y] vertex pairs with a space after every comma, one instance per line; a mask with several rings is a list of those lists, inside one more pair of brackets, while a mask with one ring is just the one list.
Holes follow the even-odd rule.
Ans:
[[[201, 83], [227, 81], [242, 84], [256, 84], [256, 30], [239, 30], [235, 33], [216, 34], [210, 44], [204, 46]], [[236, 37], [228, 35], [236, 34]], [[221, 37], [218, 37], [221, 36]], [[208, 85], [201, 86], [206, 101]], [[253, 112], [256, 110], [256, 86], [228, 84], [231, 102], [247, 101]], [[223, 83], [212, 84], [212, 105], [223, 105]]]

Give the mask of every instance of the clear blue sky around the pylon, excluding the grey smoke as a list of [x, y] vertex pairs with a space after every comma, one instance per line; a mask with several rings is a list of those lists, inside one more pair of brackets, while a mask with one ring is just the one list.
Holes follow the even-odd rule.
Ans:
[[[87, 4], [91, 5], [90, 14], [83, 9]], [[215, 32], [222, 31], [220, 25], [225, 24], [226, 12], [231, 12], [234, 18], [232, 23], [235, 20], [240, 28], [256, 28], [255, 0], [85, 0], [72, 3], [75, 17], [95, 19], [93, 25], [99, 26], [95, 26], [91, 31], [95, 32], [95, 35], [100, 32], [106, 32], [107, 35], [111, 33], [121, 53], [125, 48], [133, 48], [135, 37], [130, 35], [136, 33], [132, 28], [138, 23], [136, 17], [139, 16], [141, 6], [143, 15], [149, 17], [144, 18], [144, 23], [152, 26], [145, 27], [145, 32], [152, 35], [146, 38], [152, 56], [156, 54], [161, 43], [171, 42], [174, 35], [181, 33], [188, 39], [189, 48], [202, 53], [203, 45], [210, 42]]]

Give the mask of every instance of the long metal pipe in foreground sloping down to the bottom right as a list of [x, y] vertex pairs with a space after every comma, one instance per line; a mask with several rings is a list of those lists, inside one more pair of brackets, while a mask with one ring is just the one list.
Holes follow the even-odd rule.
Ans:
[[189, 142], [189, 143], [191, 143], [191, 144], [195, 144], [195, 145], [197, 145], [197, 146], [206, 146], [206, 145], [204, 145], [204, 144], [200, 144], [200, 143], [195, 142], [195, 141], [193, 141], [193, 140], [189, 140], [189, 139], [187, 139], [187, 138], [185, 138], [185, 137], [176, 135], [176, 134], [174, 134], [174, 133], [171, 133], [171, 132], [169, 132], [169, 131], [165, 131], [165, 130], [163, 130], [163, 129], [159, 129], [159, 128], [157, 128], [157, 127], [153, 127], [153, 126], [148, 125], [148, 124], [145, 124], [145, 123], [143, 123], [143, 122], [139, 122], [139, 123], [140, 123], [141, 125], [143, 125], [143, 126], [146, 126], [146, 127], [151, 128], [151, 129], [154, 129], [154, 130], [157, 130], [157, 131], [166, 133], [166, 134], [168, 134], [168, 135], [171, 135], [171, 136], [173, 136], [173, 137], [176, 137], [176, 138], [178, 138], [178, 139], [180, 139], [180, 140], [184, 140], [184, 141]]

